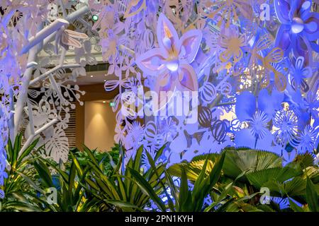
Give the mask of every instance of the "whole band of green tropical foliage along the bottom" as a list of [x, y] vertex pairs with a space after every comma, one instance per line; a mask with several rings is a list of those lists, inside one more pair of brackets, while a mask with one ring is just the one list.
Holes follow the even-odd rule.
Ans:
[[[37, 154], [38, 141], [21, 152], [22, 143], [18, 135], [6, 147], [2, 211], [319, 211], [319, 169], [308, 154], [283, 166], [274, 153], [226, 148], [167, 169], [157, 161], [164, 147], [152, 157], [141, 146], [123, 167], [120, 145], [107, 153], [84, 146], [83, 152], [71, 150], [61, 165]], [[149, 169], [142, 167], [143, 153]], [[289, 208], [259, 203], [263, 187], [286, 198]]]

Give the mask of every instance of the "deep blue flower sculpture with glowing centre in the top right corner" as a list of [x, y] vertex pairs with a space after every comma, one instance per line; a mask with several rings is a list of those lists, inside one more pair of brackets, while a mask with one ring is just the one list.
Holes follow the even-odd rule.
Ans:
[[312, 50], [319, 52], [315, 42], [319, 36], [319, 13], [311, 12], [311, 0], [274, 0], [276, 15], [281, 26], [276, 36], [276, 46], [288, 55], [312, 61]]

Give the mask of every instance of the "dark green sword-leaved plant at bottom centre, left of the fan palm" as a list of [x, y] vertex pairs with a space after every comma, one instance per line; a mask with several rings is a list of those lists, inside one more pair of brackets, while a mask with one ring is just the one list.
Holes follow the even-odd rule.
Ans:
[[[150, 154], [147, 153], [147, 158], [150, 162], [152, 170], [157, 172], [157, 167], [155, 166], [154, 160], [150, 157]], [[133, 178], [136, 180], [138, 185], [147, 192], [147, 194], [152, 198], [152, 201], [155, 202], [159, 210], [167, 211], [177, 211], [177, 212], [194, 212], [194, 211], [201, 211], [203, 210], [203, 203], [206, 196], [210, 193], [211, 189], [213, 188], [214, 184], [219, 179], [221, 169], [223, 167], [223, 162], [225, 159], [225, 153], [220, 156], [216, 165], [211, 169], [209, 175], [206, 175], [206, 167], [208, 164], [208, 160], [206, 160], [203, 164], [203, 169], [201, 170], [198, 178], [194, 183], [194, 188], [189, 190], [188, 179], [186, 177], [186, 171], [183, 166], [180, 167], [181, 170], [181, 183], [178, 187], [174, 184], [172, 180], [172, 176], [165, 170], [165, 182], [162, 182], [162, 178], [157, 174], [157, 179], [159, 180], [160, 184], [162, 185], [162, 189], [164, 194], [167, 196], [168, 204], [165, 205], [159, 196], [157, 196], [150, 183], [148, 183], [143, 177], [140, 176], [135, 169], [130, 169], [130, 172]], [[168, 193], [167, 189], [170, 190]]]

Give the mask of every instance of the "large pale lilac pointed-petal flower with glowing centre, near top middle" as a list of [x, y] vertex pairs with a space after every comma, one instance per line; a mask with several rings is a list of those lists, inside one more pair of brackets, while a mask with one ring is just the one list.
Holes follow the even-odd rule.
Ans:
[[136, 64], [144, 73], [157, 76], [155, 92], [198, 90], [198, 81], [191, 62], [201, 44], [201, 31], [189, 30], [179, 39], [172, 23], [161, 14], [157, 23], [159, 48], [142, 54]]

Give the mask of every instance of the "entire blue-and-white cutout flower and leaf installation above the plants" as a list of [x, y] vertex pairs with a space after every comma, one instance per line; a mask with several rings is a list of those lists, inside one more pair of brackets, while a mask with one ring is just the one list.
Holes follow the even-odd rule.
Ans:
[[45, 155], [67, 159], [69, 111], [84, 94], [69, 84], [86, 76], [86, 64], [107, 64], [104, 88], [119, 91], [114, 140], [125, 162], [140, 145], [155, 155], [165, 143], [159, 161], [168, 166], [228, 146], [286, 162], [315, 157], [318, 8], [308, 0], [1, 1], [0, 187], [4, 146], [23, 128], [26, 144], [40, 136]]

